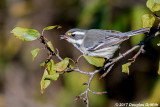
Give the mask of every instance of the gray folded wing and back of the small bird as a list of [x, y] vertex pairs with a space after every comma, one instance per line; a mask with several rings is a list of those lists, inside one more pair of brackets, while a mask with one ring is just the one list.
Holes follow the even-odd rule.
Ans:
[[87, 48], [88, 51], [94, 51], [117, 45], [129, 38], [128, 36], [119, 37], [119, 34], [121, 34], [121, 32], [114, 30], [88, 30], [86, 32], [87, 37], [85, 37], [83, 41], [83, 46]]

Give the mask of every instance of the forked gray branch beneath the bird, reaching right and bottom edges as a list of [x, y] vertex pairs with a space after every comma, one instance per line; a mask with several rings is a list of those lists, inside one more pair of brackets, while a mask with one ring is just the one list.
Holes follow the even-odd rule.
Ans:
[[[90, 84], [91, 84], [92, 79], [94, 78], [94, 76], [95, 76], [98, 72], [100, 72], [101, 70], [106, 69], [107, 67], [109, 67], [109, 68], [107, 69], [107, 71], [100, 77], [100, 79], [103, 78], [103, 77], [105, 77], [105, 76], [111, 71], [112, 67], [114, 66], [114, 64], [115, 64], [116, 62], [118, 62], [119, 60], [121, 60], [122, 58], [124, 58], [125, 56], [127, 56], [128, 54], [130, 54], [131, 52], [135, 51], [136, 49], [138, 49], [138, 48], [140, 47], [139, 51], [132, 57], [132, 60], [135, 61], [135, 59], [136, 59], [141, 53], [144, 52], [144, 49], [143, 49], [143, 48], [144, 48], [144, 46], [145, 46], [145, 43], [148, 42], [150, 39], [154, 38], [155, 36], [158, 36], [159, 34], [160, 34], [160, 29], [159, 29], [156, 33], [148, 36], [144, 41], [141, 41], [138, 45], [132, 47], [131, 49], [129, 49], [128, 51], [126, 51], [126, 52], [123, 53], [122, 55], [119, 55], [118, 57], [114, 58], [111, 62], [106, 63], [106, 64], [104, 65], [104, 67], [101, 67], [101, 68], [98, 69], [98, 70], [95, 70], [95, 71], [93, 71], [93, 72], [84, 72], [84, 71], [81, 71], [80, 69], [73, 69], [73, 70], [76, 71], [76, 72], [80, 72], [80, 73], [82, 73], [82, 74], [90, 75], [90, 78], [89, 78], [88, 83], [87, 83], [87, 88], [86, 88], [86, 90], [85, 90], [83, 93], [81, 93], [79, 96], [77, 96], [75, 100], [82, 99], [82, 100], [86, 103], [86, 107], [89, 107], [88, 92], [91, 92], [92, 94], [105, 94], [105, 93], [107, 93], [107, 92], [93, 92], [93, 91], [90, 89]], [[83, 95], [85, 95], [85, 97], [83, 97]]]

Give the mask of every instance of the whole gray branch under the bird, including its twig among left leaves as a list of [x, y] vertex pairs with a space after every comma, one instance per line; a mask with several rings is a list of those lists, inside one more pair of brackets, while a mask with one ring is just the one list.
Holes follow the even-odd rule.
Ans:
[[[78, 99], [82, 99], [82, 100], [86, 103], [86, 107], [89, 107], [89, 97], [88, 97], [88, 93], [89, 93], [89, 92], [92, 93], [92, 94], [98, 94], [98, 95], [107, 93], [107, 92], [93, 92], [93, 91], [90, 89], [90, 85], [91, 85], [91, 82], [92, 82], [94, 76], [95, 76], [97, 73], [99, 73], [101, 70], [105, 70], [105, 69], [107, 69], [107, 68], [109, 67], [109, 68], [107, 69], [107, 71], [100, 77], [100, 79], [103, 78], [103, 77], [105, 77], [105, 76], [111, 71], [112, 67], [114, 66], [114, 64], [115, 64], [116, 62], [118, 62], [119, 60], [121, 60], [122, 58], [124, 58], [125, 56], [127, 56], [128, 54], [130, 54], [131, 52], [135, 51], [136, 49], [138, 49], [138, 48], [140, 47], [139, 51], [131, 58], [132, 60], [135, 61], [135, 59], [136, 59], [141, 53], [144, 52], [144, 49], [143, 49], [143, 48], [144, 48], [144, 46], [145, 46], [145, 43], [148, 42], [150, 39], [154, 38], [155, 36], [159, 35], [159, 34], [160, 34], [160, 29], [158, 29], [158, 31], [157, 31], [156, 33], [148, 36], [144, 41], [141, 41], [138, 45], [132, 47], [131, 49], [129, 49], [128, 51], [126, 51], [126, 52], [123, 53], [122, 55], [119, 55], [118, 57], [114, 58], [111, 62], [106, 63], [103, 67], [101, 67], [100, 69], [97, 69], [97, 70], [95, 70], [95, 71], [93, 71], [93, 72], [85, 72], [85, 71], [80, 70], [78, 67], [77, 67], [77, 68], [69, 68], [69, 67], [68, 67], [68, 68], [67, 68], [68, 70], [75, 71], [75, 72], [79, 72], [79, 73], [81, 73], [81, 74], [85, 74], [85, 75], [89, 75], [89, 76], [90, 76], [88, 82], [84, 84], [84, 85], [87, 85], [86, 90], [85, 90], [83, 93], [81, 93], [79, 96], [77, 96], [77, 97], [75, 98], [75, 101], [78, 100]], [[60, 55], [59, 55], [58, 49], [56, 49], [57, 53], [54, 53], [54, 52], [50, 49], [50, 47], [47, 45], [46, 40], [44, 39], [43, 36], [41, 36], [41, 37], [39, 38], [39, 40], [40, 40], [41, 43], [43, 43], [43, 44], [45, 45], [45, 48], [50, 52], [50, 55], [51, 55], [51, 56], [56, 56], [59, 60], [63, 60], [63, 59], [60, 57]]]

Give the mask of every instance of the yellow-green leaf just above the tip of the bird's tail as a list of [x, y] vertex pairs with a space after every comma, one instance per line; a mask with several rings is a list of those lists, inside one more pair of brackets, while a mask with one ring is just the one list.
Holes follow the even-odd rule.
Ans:
[[150, 14], [145, 14], [142, 16], [143, 27], [152, 27], [155, 22], [155, 17]]

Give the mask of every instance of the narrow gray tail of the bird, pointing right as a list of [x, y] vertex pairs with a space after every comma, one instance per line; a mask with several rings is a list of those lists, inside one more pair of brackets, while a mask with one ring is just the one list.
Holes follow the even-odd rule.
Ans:
[[133, 35], [147, 33], [147, 32], [149, 32], [149, 27], [138, 29], [138, 30], [133, 30], [133, 31], [125, 32], [125, 33], [121, 33], [121, 36], [122, 37], [123, 36], [133, 36]]

